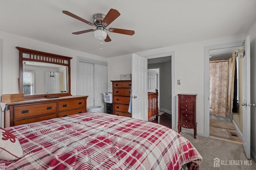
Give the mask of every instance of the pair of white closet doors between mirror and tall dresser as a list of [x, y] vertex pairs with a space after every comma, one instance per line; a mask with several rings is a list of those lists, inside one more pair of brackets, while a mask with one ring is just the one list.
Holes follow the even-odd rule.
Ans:
[[78, 95], [88, 96], [87, 106], [103, 106], [107, 92], [107, 66], [79, 62]]

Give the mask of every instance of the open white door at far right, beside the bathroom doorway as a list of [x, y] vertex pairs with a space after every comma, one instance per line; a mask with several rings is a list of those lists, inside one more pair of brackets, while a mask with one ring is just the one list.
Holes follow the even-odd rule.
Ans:
[[250, 36], [244, 41], [245, 56], [243, 58], [243, 145], [246, 157], [250, 159], [251, 104], [250, 104]]

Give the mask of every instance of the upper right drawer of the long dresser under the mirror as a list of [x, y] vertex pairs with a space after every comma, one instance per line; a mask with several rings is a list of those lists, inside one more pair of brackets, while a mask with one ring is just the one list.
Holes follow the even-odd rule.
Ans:
[[85, 100], [75, 99], [58, 102], [58, 111], [65, 111], [78, 107], [85, 107]]

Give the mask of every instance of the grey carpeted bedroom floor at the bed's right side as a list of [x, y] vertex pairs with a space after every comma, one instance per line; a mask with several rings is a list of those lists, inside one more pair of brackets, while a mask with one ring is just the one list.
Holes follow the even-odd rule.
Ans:
[[[252, 156], [250, 160], [246, 158], [243, 145], [198, 135], [197, 139], [194, 139], [192, 134], [184, 132], [180, 134], [188, 139], [202, 155], [200, 170], [254, 170], [256, 168], [256, 162]], [[214, 167], [214, 158], [219, 158], [220, 167]], [[248, 165], [245, 165], [246, 163]]]

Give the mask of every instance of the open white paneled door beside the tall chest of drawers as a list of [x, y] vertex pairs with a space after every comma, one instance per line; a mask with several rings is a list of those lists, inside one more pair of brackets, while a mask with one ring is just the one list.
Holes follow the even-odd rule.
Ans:
[[132, 118], [148, 121], [148, 59], [132, 54]]

